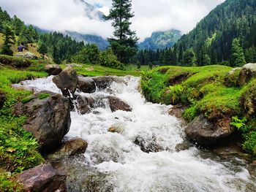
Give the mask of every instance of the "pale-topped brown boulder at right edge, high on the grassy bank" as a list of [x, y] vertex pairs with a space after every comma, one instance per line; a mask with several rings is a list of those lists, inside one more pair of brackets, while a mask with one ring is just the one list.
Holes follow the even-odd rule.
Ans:
[[256, 64], [246, 64], [239, 74], [238, 85], [243, 86], [249, 80], [256, 77]]

